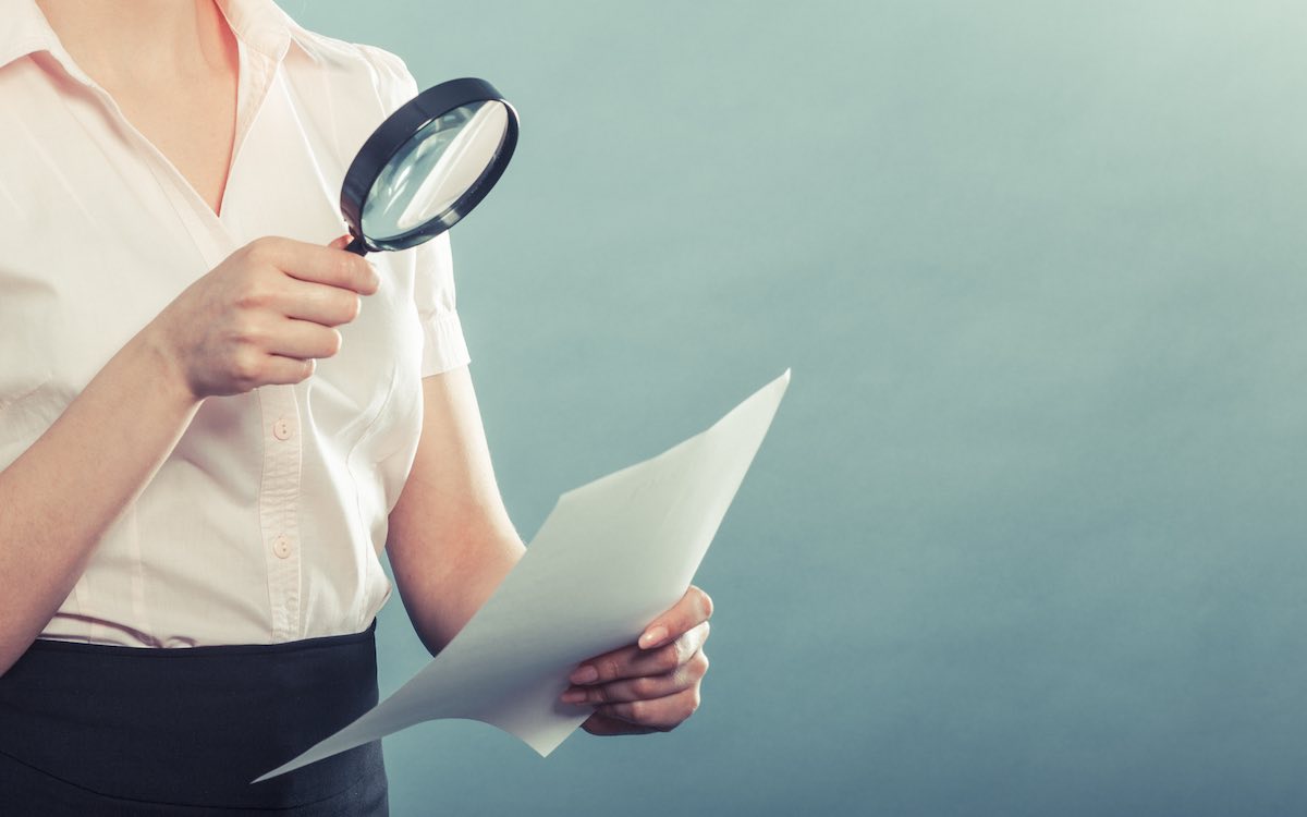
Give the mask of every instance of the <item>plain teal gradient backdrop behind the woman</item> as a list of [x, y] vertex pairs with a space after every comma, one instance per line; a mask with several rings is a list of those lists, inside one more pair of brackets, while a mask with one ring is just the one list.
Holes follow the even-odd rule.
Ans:
[[1307, 812], [1307, 7], [284, 7], [521, 114], [454, 247], [527, 539], [793, 367], [703, 709], [423, 724], [395, 813]]

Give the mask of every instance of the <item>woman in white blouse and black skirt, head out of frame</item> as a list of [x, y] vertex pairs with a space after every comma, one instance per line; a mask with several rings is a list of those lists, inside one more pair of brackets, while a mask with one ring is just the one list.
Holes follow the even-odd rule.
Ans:
[[[433, 652], [523, 552], [447, 241], [342, 250], [413, 78], [271, 0], [0, 8], [0, 804], [386, 813], [378, 744], [248, 780], [375, 703], [383, 546]], [[563, 701], [674, 727], [710, 613], [690, 588]]]

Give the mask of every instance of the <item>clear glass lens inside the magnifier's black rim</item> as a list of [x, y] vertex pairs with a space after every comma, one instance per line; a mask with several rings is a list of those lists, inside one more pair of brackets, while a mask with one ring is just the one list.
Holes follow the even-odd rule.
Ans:
[[389, 241], [446, 213], [490, 167], [507, 132], [508, 108], [495, 99], [422, 125], [376, 175], [363, 204], [363, 233]]

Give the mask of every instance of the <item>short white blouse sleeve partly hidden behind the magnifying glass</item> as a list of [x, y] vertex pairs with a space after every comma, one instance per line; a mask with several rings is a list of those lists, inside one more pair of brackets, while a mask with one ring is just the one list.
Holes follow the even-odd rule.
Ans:
[[[417, 81], [404, 60], [374, 46], [359, 46], [375, 72], [376, 93], [386, 114], [417, 95]], [[450, 234], [409, 250], [414, 256], [413, 301], [422, 325], [422, 376], [471, 362], [463, 324], [455, 308], [454, 259]]]

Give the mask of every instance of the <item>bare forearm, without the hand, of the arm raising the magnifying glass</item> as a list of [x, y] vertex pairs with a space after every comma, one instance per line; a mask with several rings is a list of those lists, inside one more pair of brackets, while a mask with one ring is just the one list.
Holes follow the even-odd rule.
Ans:
[[85, 570], [101, 535], [176, 446], [200, 401], [141, 332], [0, 472], [0, 675]]

